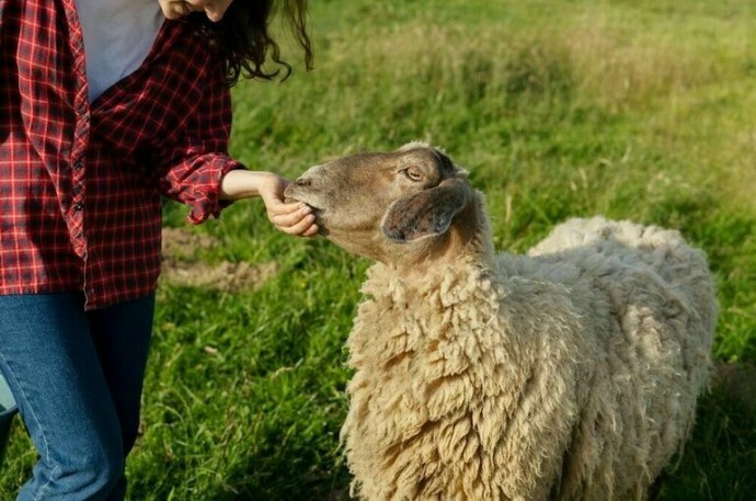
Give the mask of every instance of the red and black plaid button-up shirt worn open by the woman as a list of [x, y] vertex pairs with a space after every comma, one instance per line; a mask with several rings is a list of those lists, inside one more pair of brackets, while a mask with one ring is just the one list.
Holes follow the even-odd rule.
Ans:
[[0, 0], [0, 294], [141, 297], [161, 195], [217, 216], [231, 103], [209, 44], [167, 21], [141, 67], [88, 99], [75, 0]]

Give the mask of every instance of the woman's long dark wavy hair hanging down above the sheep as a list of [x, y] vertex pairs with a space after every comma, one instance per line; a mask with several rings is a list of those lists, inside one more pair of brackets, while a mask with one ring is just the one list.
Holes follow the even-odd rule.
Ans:
[[267, 71], [265, 60], [270, 58], [285, 69], [286, 80], [291, 73], [291, 65], [280, 58], [280, 48], [271, 37], [268, 26], [274, 14], [278, 13], [288, 22], [297, 43], [305, 50], [305, 66], [312, 69], [312, 44], [307, 33], [307, 0], [234, 0], [224, 19], [217, 23], [207, 19], [204, 12], [188, 16], [201, 35], [218, 47], [226, 59], [228, 86], [233, 86], [240, 77], [271, 80], [280, 73], [280, 68]]

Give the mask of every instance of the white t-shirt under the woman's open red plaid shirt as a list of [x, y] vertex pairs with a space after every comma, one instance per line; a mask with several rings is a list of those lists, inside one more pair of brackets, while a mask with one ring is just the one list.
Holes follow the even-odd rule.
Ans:
[[76, 0], [90, 102], [147, 58], [164, 16], [156, 0]]

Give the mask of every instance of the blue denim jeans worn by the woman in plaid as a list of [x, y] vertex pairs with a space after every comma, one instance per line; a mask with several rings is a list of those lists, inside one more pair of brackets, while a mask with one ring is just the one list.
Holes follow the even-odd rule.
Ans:
[[19, 500], [123, 500], [154, 295], [84, 311], [78, 293], [0, 296], [0, 371], [39, 454]]

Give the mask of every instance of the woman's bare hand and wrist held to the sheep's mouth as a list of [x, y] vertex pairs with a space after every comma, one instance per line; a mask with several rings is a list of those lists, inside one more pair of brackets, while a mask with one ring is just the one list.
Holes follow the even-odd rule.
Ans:
[[220, 182], [220, 197], [260, 196], [273, 226], [291, 236], [313, 237], [318, 234], [318, 225], [312, 209], [301, 202], [284, 202], [284, 190], [289, 184], [290, 181], [273, 172], [232, 170]]

